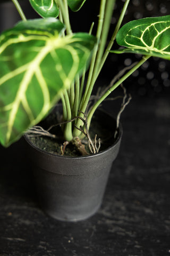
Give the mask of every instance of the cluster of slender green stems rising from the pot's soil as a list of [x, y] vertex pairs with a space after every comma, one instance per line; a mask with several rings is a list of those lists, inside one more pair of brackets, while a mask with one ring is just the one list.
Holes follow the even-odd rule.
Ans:
[[[18, 9], [21, 18], [25, 20], [25, 16], [18, 4], [17, 0], [12, 0]], [[83, 113], [86, 113], [88, 118], [88, 129], [90, 126], [91, 118], [95, 113], [95, 110], [100, 105], [102, 101], [106, 99], [106, 97], [113, 92], [117, 86], [119, 86], [126, 78], [128, 78], [136, 69], [138, 69], [149, 57], [143, 57], [141, 61], [139, 61], [132, 69], [130, 69], [124, 76], [122, 76], [109, 90], [107, 90], [101, 97], [94, 103], [94, 106], [90, 108], [89, 113], [87, 113], [87, 107], [89, 104], [89, 100], [91, 97], [92, 90], [97, 81], [97, 78], [100, 74], [101, 69], [104, 66], [104, 63], [107, 59], [109, 51], [111, 50], [113, 43], [115, 41], [116, 34], [120, 29], [122, 20], [124, 18], [126, 9], [128, 8], [130, 0], [126, 0], [121, 11], [120, 18], [117, 21], [117, 25], [113, 31], [113, 35], [106, 47], [108, 40], [108, 31], [111, 25], [111, 19], [113, 15], [113, 10], [115, 7], [116, 0], [100, 0], [100, 10], [98, 15], [98, 25], [97, 25], [97, 44], [92, 53], [90, 67], [86, 72], [86, 67], [83, 70], [82, 77], [80, 79], [77, 76], [74, 82], [70, 85], [69, 90], [65, 90], [61, 95], [61, 100], [63, 104], [63, 119], [64, 121], [70, 121], [75, 116], [83, 117]], [[67, 4], [67, 0], [58, 0], [57, 3], [60, 6], [60, 15], [59, 19], [66, 26], [65, 35], [72, 34], [72, 28], [69, 18], [69, 7]], [[91, 25], [89, 34], [92, 33]], [[85, 81], [86, 84], [85, 84]], [[80, 127], [82, 124], [81, 118], [77, 118], [75, 120], [75, 125], [72, 122], [67, 122], [64, 127], [64, 138], [66, 141], [71, 141], [74, 137], [82, 137], [82, 132], [78, 130], [75, 126]]]

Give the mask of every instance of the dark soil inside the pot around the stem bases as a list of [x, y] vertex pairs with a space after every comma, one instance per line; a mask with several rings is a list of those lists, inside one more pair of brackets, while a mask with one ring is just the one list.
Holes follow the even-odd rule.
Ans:
[[[42, 126], [44, 129], [48, 129], [50, 126], [60, 123], [61, 120], [60, 114], [58, 110], [53, 111], [51, 115], [49, 115], [43, 122], [39, 125]], [[109, 146], [111, 146], [114, 142], [114, 132], [115, 132], [115, 121], [111, 116], [102, 110], [97, 110], [96, 115], [92, 118], [91, 125], [90, 125], [90, 137], [94, 142], [95, 135], [97, 134], [97, 145], [98, 139], [101, 140], [100, 150], [105, 150]], [[61, 147], [64, 143], [63, 133], [62, 133], [62, 126], [58, 125], [53, 127], [50, 130], [50, 133], [55, 134], [57, 138], [50, 138], [47, 136], [33, 136], [29, 137], [30, 141], [33, 145], [36, 145], [41, 150], [44, 150], [48, 153], [61, 155]], [[89, 146], [88, 146], [88, 139], [84, 137], [82, 139], [82, 143], [85, 145], [86, 151], [91, 154]], [[64, 152], [65, 156], [80, 156], [79, 151], [74, 145], [70, 142]]]

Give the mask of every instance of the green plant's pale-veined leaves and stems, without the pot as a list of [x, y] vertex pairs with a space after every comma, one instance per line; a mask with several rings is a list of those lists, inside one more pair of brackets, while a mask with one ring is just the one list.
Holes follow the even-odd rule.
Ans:
[[[98, 2], [95, 36], [91, 35], [93, 23], [87, 34], [74, 34], [71, 28], [69, 12], [90, 4], [86, 0], [30, 0], [43, 17], [35, 20], [27, 20], [18, 1], [12, 1], [23, 21], [0, 36], [0, 141], [4, 146], [44, 118], [58, 99], [63, 103], [65, 140], [81, 138], [77, 127], [83, 125], [85, 113], [89, 128], [100, 103], [148, 58], [169, 59], [170, 15], [130, 21], [120, 29], [130, 0], [125, 1], [108, 44], [115, 0]], [[112, 50], [115, 38], [124, 49]], [[111, 52], [143, 57], [89, 108], [92, 90]]]

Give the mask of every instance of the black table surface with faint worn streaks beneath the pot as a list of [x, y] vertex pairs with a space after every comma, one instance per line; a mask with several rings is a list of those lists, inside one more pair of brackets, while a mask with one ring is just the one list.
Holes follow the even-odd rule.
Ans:
[[0, 148], [1, 256], [170, 255], [169, 96], [134, 97], [121, 122], [101, 209], [80, 222], [39, 209], [23, 139]]

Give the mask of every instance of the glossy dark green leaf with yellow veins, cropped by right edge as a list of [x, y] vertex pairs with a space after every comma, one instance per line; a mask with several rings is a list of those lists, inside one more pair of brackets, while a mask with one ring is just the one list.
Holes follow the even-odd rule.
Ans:
[[144, 18], [126, 23], [117, 33], [116, 41], [126, 49], [114, 53], [139, 53], [170, 59], [170, 15]]

